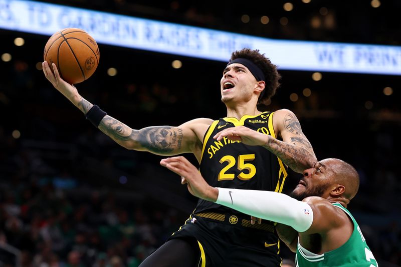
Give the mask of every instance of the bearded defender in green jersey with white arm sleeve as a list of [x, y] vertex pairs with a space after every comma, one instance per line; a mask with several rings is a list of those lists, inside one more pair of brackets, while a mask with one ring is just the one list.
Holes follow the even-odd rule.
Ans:
[[[359, 175], [340, 159], [323, 159], [304, 170], [292, 192], [302, 201], [271, 191], [212, 187], [183, 156], [162, 159], [160, 163], [181, 175], [181, 183], [187, 183], [194, 196], [283, 223], [277, 230], [296, 251], [299, 267], [377, 267], [357, 222], [346, 209], [358, 191]], [[299, 233], [291, 233], [287, 225]]]

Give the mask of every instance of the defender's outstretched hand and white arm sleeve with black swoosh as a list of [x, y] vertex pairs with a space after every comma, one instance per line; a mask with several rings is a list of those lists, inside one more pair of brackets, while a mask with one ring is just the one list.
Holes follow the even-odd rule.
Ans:
[[199, 198], [258, 218], [290, 225], [297, 231], [306, 231], [312, 224], [311, 206], [286, 194], [212, 187], [200, 175], [196, 167], [183, 156], [162, 159], [160, 164], [181, 175], [181, 183], [187, 183], [189, 192]]

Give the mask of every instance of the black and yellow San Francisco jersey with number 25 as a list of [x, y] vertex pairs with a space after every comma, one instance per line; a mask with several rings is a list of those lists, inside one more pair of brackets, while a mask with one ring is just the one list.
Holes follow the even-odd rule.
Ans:
[[[246, 145], [227, 137], [217, 141], [213, 138], [228, 127], [244, 125], [276, 138], [273, 129], [274, 112], [244, 115], [240, 120], [225, 117], [215, 120], [204, 136], [199, 171], [214, 187], [269, 190], [281, 192], [287, 176], [287, 167], [272, 152], [258, 145]], [[219, 211], [239, 213], [214, 202], [199, 199], [194, 213]]]

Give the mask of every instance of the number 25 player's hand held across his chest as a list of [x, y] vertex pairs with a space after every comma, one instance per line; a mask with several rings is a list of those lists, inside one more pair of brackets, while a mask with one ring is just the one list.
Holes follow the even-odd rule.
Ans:
[[248, 145], [264, 145], [269, 138], [268, 135], [245, 126], [226, 128], [213, 136], [213, 138], [219, 141], [223, 139], [223, 137], [234, 141], [241, 141]]

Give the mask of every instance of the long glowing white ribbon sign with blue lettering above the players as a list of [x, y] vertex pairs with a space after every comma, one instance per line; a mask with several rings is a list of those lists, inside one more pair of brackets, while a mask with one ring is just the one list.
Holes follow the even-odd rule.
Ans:
[[0, 28], [52, 35], [77, 27], [97, 42], [227, 62], [244, 47], [281, 69], [401, 74], [401, 46], [289, 41], [29, 0], [0, 0]]

